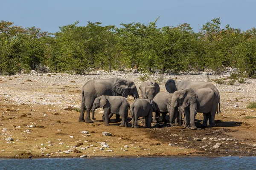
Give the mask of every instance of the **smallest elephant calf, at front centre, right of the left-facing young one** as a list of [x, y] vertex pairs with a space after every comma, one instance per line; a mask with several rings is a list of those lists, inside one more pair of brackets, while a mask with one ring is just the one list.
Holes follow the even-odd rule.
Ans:
[[131, 105], [132, 124], [131, 127], [138, 128], [139, 117], [145, 117], [145, 127], [151, 127], [153, 111], [158, 109], [157, 104], [151, 99], [136, 99]]

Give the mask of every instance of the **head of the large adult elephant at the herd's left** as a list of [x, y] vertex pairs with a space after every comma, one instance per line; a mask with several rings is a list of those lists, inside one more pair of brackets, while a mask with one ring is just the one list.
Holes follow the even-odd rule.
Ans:
[[113, 90], [115, 91], [117, 96], [121, 95], [121, 96], [124, 96], [125, 98], [127, 98], [128, 95], [130, 95], [130, 96], [133, 96], [134, 99], [139, 98], [137, 88], [136, 88], [133, 81], [119, 79], [114, 84], [114, 89]]

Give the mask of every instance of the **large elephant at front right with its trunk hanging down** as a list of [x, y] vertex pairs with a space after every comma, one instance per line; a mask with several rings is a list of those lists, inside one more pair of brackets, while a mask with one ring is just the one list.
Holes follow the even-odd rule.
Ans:
[[207, 126], [208, 119], [210, 127], [213, 127], [218, 103], [218, 94], [211, 88], [201, 88], [195, 91], [192, 88], [185, 88], [175, 91], [172, 96], [170, 120], [173, 118], [175, 108], [182, 106], [180, 109], [184, 109], [187, 128], [197, 129], [195, 115], [198, 112], [204, 113], [203, 127]]

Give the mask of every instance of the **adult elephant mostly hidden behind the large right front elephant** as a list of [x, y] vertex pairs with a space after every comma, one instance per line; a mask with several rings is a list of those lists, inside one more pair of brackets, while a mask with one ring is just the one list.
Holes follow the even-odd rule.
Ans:
[[[177, 90], [182, 90], [185, 88], [192, 88], [194, 91], [201, 89], [201, 88], [211, 88], [215, 93], [218, 95], [219, 99], [219, 113], [221, 113], [221, 98], [218, 89], [215, 87], [215, 85], [209, 83], [209, 82], [193, 82], [189, 80], [181, 80], [178, 82], [175, 82], [173, 79], [168, 79], [166, 84], [166, 90], [169, 93], [174, 93]], [[218, 112], [218, 109], [217, 109]]]

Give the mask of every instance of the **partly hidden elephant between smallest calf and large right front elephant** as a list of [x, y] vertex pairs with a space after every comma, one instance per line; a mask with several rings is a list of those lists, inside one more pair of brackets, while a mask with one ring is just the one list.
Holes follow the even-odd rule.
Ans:
[[[170, 107], [171, 107], [171, 103], [172, 103], [172, 96], [173, 96], [173, 94], [169, 94], [169, 93], [161, 91], [154, 97], [153, 101], [157, 103], [159, 113], [153, 114], [152, 122], [157, 122], [156, 115], [160, 116], [160, 113], [162, 113], [163, 121], [167, 122], [166, 114], [170, 112]], [[170, 122], [171, 125], [178, 125], [178, 122], [177, 122], [178, 112], [177, 111], [178, 110], [176, 108], [175, 109], [175, 116], [174, 116], [175, 123], [173, 124], [172, 122]]]

